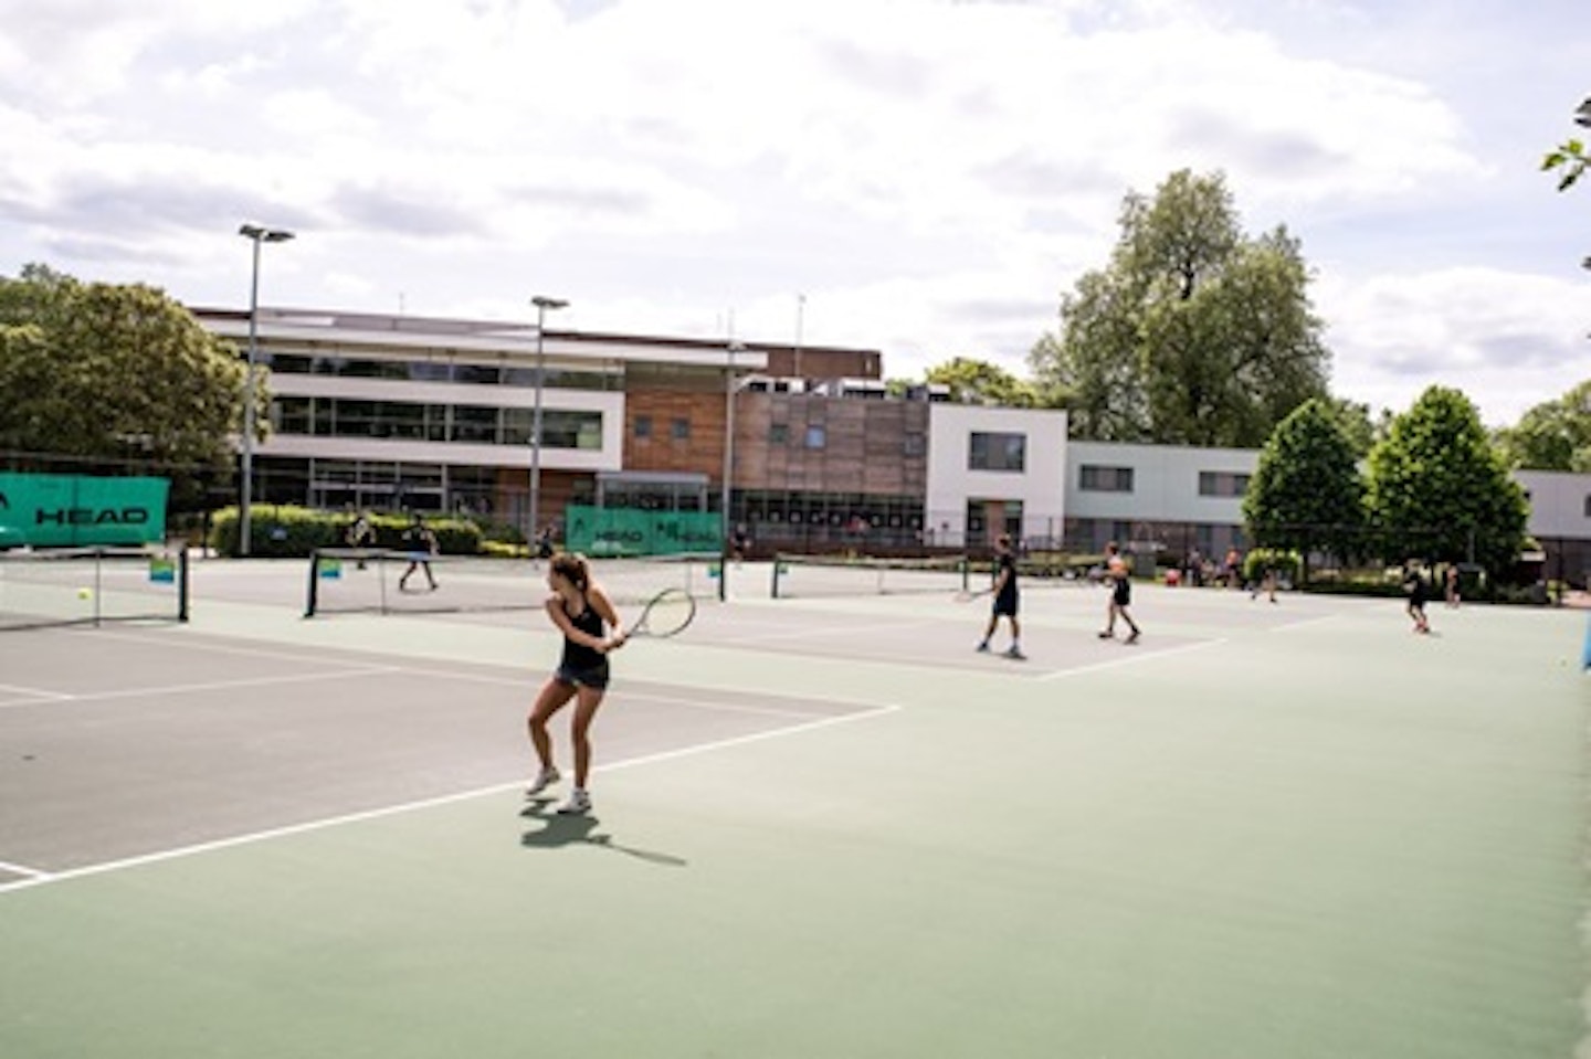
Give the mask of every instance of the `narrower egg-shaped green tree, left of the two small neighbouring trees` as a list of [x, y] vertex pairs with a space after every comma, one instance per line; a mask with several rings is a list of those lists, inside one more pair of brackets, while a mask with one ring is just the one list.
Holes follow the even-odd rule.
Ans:
[[1243, 518], [1257, 545], [1298, 552], [1305, 563], [1311, 552], [1346, 558], [1357, 550], [1365, 483], [1338, 409], [1306, 401], [1281, 421], [1260, 450]]

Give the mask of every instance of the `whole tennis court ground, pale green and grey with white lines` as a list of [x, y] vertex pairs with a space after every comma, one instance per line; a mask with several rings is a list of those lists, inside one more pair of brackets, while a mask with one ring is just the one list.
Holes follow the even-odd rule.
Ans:
[[1128, 647], [1034, 588], [1007, 661], [986, 603], [732, 593], [616, 655], [558, 817], [543, 617], [221, 588], [299, 574], [0, 636], [0, 1054], [1585, 1054], [1585, 614], [1144, 587]]

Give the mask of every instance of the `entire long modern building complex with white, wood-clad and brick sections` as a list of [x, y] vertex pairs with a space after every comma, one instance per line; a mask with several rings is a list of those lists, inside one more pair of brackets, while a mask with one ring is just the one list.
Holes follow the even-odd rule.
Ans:
[[[247, 347], [247, 312], [194, 313]], [[719, 510], [727, 495], [759, 550], [980, 550], [999, 533], [1074, 552], [1246, 549], [1257, 450], [1069, 440], [1064, 412], [891, 393], [877, 350], [293, 308], [261, 308], [256, 332], [272, 390], [256, 502], [528, 531], [539, 405], [543, 523], [570, 504]], [[1591, 475], [1516, 479], [1546, 576], [1581, 584]]]

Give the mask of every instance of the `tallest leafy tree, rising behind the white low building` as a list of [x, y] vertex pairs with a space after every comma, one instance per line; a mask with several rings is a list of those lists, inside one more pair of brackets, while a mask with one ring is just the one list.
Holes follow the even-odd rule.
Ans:
[[1111, 264], [1061, 297], [1029, 353], [1074, 437], [1254, 448], [1327, 396], [1328, 353], [1298, 240], [1246, 237], [1225, 176], [1173, 173], [1128, 194]]

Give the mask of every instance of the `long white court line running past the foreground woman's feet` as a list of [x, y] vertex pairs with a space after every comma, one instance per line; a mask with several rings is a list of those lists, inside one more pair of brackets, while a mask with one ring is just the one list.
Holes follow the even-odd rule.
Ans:
[[[622, 762], [614, 762], [611, 765], [598, 765], [593, 771], [608, 773], [617, 771], [620, 768], [635, 768], [638, 765], [655, 765], [657, 762], [668, 762], [679, 757], [690, 757], [694, 754], [706, 754], [711, 751], [722, 751], [732, 746], [743, 746], [748, 743], [759, 743], [762, 739], [775, 739], [789, 735], [815, 731], [818, 728], [827, 728], [831, 725], [850, 723], [853, 720], [869, 720], [872, 717], [883, 717], [899, 711], [901, 706], [878, 706], [877, 709], [846, 714], [843, 717], [824, 717], [821, 720], [813, 720], [805, 725], [792, 725], [789, 728], [778, 728], [775, 731], [759, 731], [754, 735], [733, 736], [730, 739], [718, 739], [714, 743], [702, 743], [698, 746], [681, 747], [678, 751], [660, 751], [657, 754], [644, 754], [641, 757], [632, 757]], [[476, 790], [463, 790], [450, 795], [439, 795], [436, 798], [422, 798], [418, 801], [404, 801], [401, 805], [390, 805], [380, 809], [366, 809], [363, 813], [345, 813], [342, 816], [329, 816], [320, 820], [309, 820], [304, 824], [291, 824], [288, 827], [272, 827], [264, 832], [251, 832], [248, 835], [234, 835], [231, 838], [218, 838], [208, 843], [194, 843], [193, 846], [178, 846], [175, 849], [162, 849], [161, 852], [142, 854], [138, 857], [124, 857], [121, 860], [107, 860], [105, 863], [84, 865], [81, 868], [67, 868], [65, 871], [41, 871], [32, 875], [30, 878], [19, 879], [16, 882], [0, 884], [0, 897], [16, 890], [32, 889], [35, 886], [48, 886], [51, 882], [65, 882], [68, 879], [83, 879], [95, 875], [108, 875], [111, 871], [121, 871], [124, 868], [138, 868], [151, 863], [162, 863], [165, 860], [178, 860], [181, 857], [193, 857], [204, 852], [216, 852], [221, 849], [232, 849], [237, 846], [251, 846], [255, 843], [270, 841], [275, 838], [291, 838], [296, 835], [309, 835], [312, 832], [329, 830], [333, 827], [342, 827], [345, 824], [361, 824], [364, 820], [379, 820], [388, 816], [401, 816], [406, 813], [417, 813], [422, 809], [433, 809], [444, 805], [455, 805], [458, 801], [471, 801], [474, 798], [485, 798], [490, 795], [503, 793], [504, 790], [514, 790], [522, 787], [523, 778], [514, 779], [504, 784], [495, 784], [492, 787], [477, 787]]]

